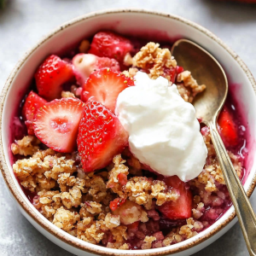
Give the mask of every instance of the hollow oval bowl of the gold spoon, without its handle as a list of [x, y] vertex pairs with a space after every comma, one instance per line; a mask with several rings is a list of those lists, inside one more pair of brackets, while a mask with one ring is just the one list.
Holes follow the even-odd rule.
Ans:
[[228, 94], [224, 70], [210, 53], [186, 39], [172, 45], [172, 55], [181, 67], [191, 71], [198, 84], [207, 85], [207, 89], [193, 101], [196, 117], [207, 125], [213, 116], [218, 117]]

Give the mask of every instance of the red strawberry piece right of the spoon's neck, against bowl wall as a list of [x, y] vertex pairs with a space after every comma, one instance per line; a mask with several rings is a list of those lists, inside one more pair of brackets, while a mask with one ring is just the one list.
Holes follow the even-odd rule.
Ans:
[[218, 116], [218, 131], [226, 146], [236, 146], [238, 143], [237, 126], [226, 107]]

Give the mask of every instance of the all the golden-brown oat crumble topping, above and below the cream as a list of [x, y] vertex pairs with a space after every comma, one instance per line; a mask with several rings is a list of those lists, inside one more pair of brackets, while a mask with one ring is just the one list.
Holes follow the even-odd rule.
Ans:
[[[87, 53], [89, 49], [90, 42], [83, 40], [79, 52]], [[169, 85], [175, 80], [170, 71], [178, 68], [170, 50], [161, 49], [160, 44], [153, 42], [133, 57], [128, 52], [122, 64], [130, 67], [123, 72], [126, 77], [133, 79], [142, 70], [151, 79], [165, 77]], [[177, 90], [184, 101], [193, 102], [206, 85], [198, 84], [189, 71], [179, 72], [175, 74]], [[81, 89], [73, 84], [70, 91], [61, 91], [61, 97], [80, 98]], [[129, 148], [115, 155], [113, 163], [104, 169], [84, 172], [78, 152], [62, 154], [50, 148], [43, 150], [40, 140], [29, 135], [11, 144], [13, 154], [19, 155], [13, 170], [20, 184], [34, 195], [33, 206], [61, 230], [83, 241], [121, 250], [166, 247], [205, 230], [212, 224], [211, 220], [223, 213], [220, 206], [224, 201], [230, 200], [209, 129], [202, 129], [205, 129], [202, 136], [208, 150], [207, 162], [201, 174], [187, 183], [194, 191], [193, 207], [191, 218], [181, 223], [179, 219], [167, 219], [160, 212], [166, 202], [178, 201], [181, 193], [148, 174]], [[244, 171], [241, 159], [228, 153], [241, 178]], [[116, 205], [111, 205], [113, 202]], [[177, 221], [175, 227], [172, 221]], [[160, 225], [168, 230], [162, 230]]]

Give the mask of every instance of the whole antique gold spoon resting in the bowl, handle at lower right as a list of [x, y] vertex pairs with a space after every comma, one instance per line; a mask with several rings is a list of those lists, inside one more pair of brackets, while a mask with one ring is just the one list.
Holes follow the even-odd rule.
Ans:
[[210, 128], [212, 143], [216, 150], [218, 162], [224, 174], [225, 183], [236, 209], [247, 249], [251, 256], [256, 255], [256, 218], [253, 208], [236, 174], [234, 166], [218, 134], [218, 113], [224, 106], [228, 93], [228, 81], [218, 61], [189, 40], [178, 40], [172, 46], [172, 55], [178, 65], [189, 70], [199, 84], [207, 84], [207, 90], [195, 97], [196, 117]]

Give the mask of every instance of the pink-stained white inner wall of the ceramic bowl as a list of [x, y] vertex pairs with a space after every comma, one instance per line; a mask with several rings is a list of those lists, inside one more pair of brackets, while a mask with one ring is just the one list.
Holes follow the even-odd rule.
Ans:
[[[139, 26], [138, 26], [139, 25]], [[18, 189], [27, 206], [31, 207], [29, 201], [23, 195], [20, 189], [19, 183], [15, 179], [15, 175], [12, 171], [12, 154], [10, 152], [10, 143], [13, 141], [13, 118], [20, 104], [21, 99], [26, 93], [31, 81], [33, 74], [44, 61], [45, 57], [50, 54], [60, 53], [61, 51], [70, 48], [73, 44], [79, 42], [83, 38], [91, 37], [95, 32], [109, 29], [122, 34], [128, 34], [139, 37], [146, 37], [154, 42], [155, 38], [165, 40], [175, 40], [176, 38], [189, 38], [195, 43], [200, 44], [203, 48], [207, 49], [224, 67], [225, 72], [228, 75], [230, 82], [230, 89], [235, 92], [236, 99], [239, 102], [240, 108], [244, 119], [249, 127], [248, 134], [248, 157], [247, 157], [247, 180], [244, 184], [247, 190], [250, 183], [255, 175], [255, 137], [256, 137], [256, 98], [252, 86], [252, 80], [250, 80], [250, 73], [246, 73], [245, 67], [239, 65], [236, 55], [232, 55], [227, 49], [224, 48], [218, 38], [212, 36], [211, 33], [207, 32], [201, 27], [195, 27], [193, 23], [179, 19], [175, 16], [169, 17], [168, 15], [156, 15], [149, 12], [107, 12], [100, 15], [89, 15], [73, 20], [71, 24], [67, 23], [61, 26], [60, 29], [53, 32], [48, 37], [44, 38], [43, 42], [38, 44], [29, 55], [26, 55], [24, 60], [20, 61], [20, 66], [13, 73], [13, 77], [10, 77], [9, 82], [6, 84], [9, 87], [5, 96], [3, 105], [3, 116], [2, 116], [2, 139], [3, 139], [3, 153], [7, 166], [9, 168], [9, 176], [12, 178], [13, 186]], [[184, 53], [185, 54], [185, 53]], [[7, 89], [7, 88], [5, 88]], [[33, 209], [32, 211], [36, 211]], [[230, 208], [228, 212], [224, 214], [215, 224], [210, 228], [201, 232], [198, 236], [191, 238], [189, 241], [183, 241], [177, 245], [171, 246], [173, 250], [178, 247], [192, 246], [191, 242], [198, 241], [199, 237], [206, 236], [212, 230], [216, 230], [221, 223], [233, 212], [234, 209]], [[45, 219], [45, 221], [47, 221]], [[55, 228], [55, 227], [54, 227]], [[57, 230], [55, 228], [55, 230]], [[70, 236], [66, 234], [66, 236]], [[78, 240], [72, 237], [73, 240]], [[84, 243], [86, 247], [96, 248], [97, 246], [88, 244], [84, 241], [79, 241], [80, 244]], [[166, 252], [171, 247], [163, 247], [158, 249], [150, 249], [146, 251], [138, 252], [137, 254], [145, 253], [160, 253]], [[102, 252], [113, 252], [115, 250], [102, 248]], [[117, 251], [118, 255], [121, 254]], [[130, 254], [132, 252], [125, 252]]]

